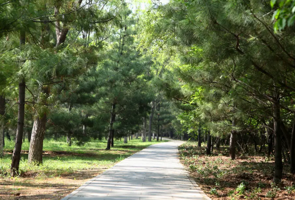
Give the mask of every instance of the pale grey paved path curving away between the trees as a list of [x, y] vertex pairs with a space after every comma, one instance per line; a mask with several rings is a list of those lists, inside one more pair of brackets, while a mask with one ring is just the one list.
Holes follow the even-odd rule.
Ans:
[[181, 143], [151, 145], [62, 200], [210, 200], [179, 163], [177, 147]]

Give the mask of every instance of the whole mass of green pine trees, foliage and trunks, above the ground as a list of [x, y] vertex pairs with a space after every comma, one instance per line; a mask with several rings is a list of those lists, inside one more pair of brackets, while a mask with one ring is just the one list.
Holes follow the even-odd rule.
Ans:
[[207, 135], [208, 154], [223, 139], [233, 160], [248, 138], [280, 182], [286, 162], [295, 173], [294, 13], [294, 0], [1, 0], [0, 156], [6, 131], [13, 176], [24, 135], [35, 165], [44, 138], [110, 150]]

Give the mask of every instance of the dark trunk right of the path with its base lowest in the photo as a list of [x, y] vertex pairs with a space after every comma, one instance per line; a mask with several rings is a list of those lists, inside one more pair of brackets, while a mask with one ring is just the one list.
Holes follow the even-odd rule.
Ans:
[[[278, 96], [278, 95], [277, 95]], [[274, 127], [274, 177], [273, 182], [280, 182], [282, 179], [283, 163], [282, 163], [282, 131], [279, 99], [273, 103], [273, 127]]]

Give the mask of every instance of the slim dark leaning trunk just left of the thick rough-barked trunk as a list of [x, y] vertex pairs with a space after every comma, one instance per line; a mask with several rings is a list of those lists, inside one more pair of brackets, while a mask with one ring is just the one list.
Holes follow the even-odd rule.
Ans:
[[22, 143], [23, 143], [24, 120], [25, 120], [25, 92], [26, 92], [26, 82], [25, 82], [25, 79], [22, 78], [19, 83], [17, 131], [16, 131], [15, 146], [14, 146], [12, 162], [11, 162], [11, 176], [13, 177], [18, 173], [20, 160], [21, 160], [21, 150], [22, 150]]

